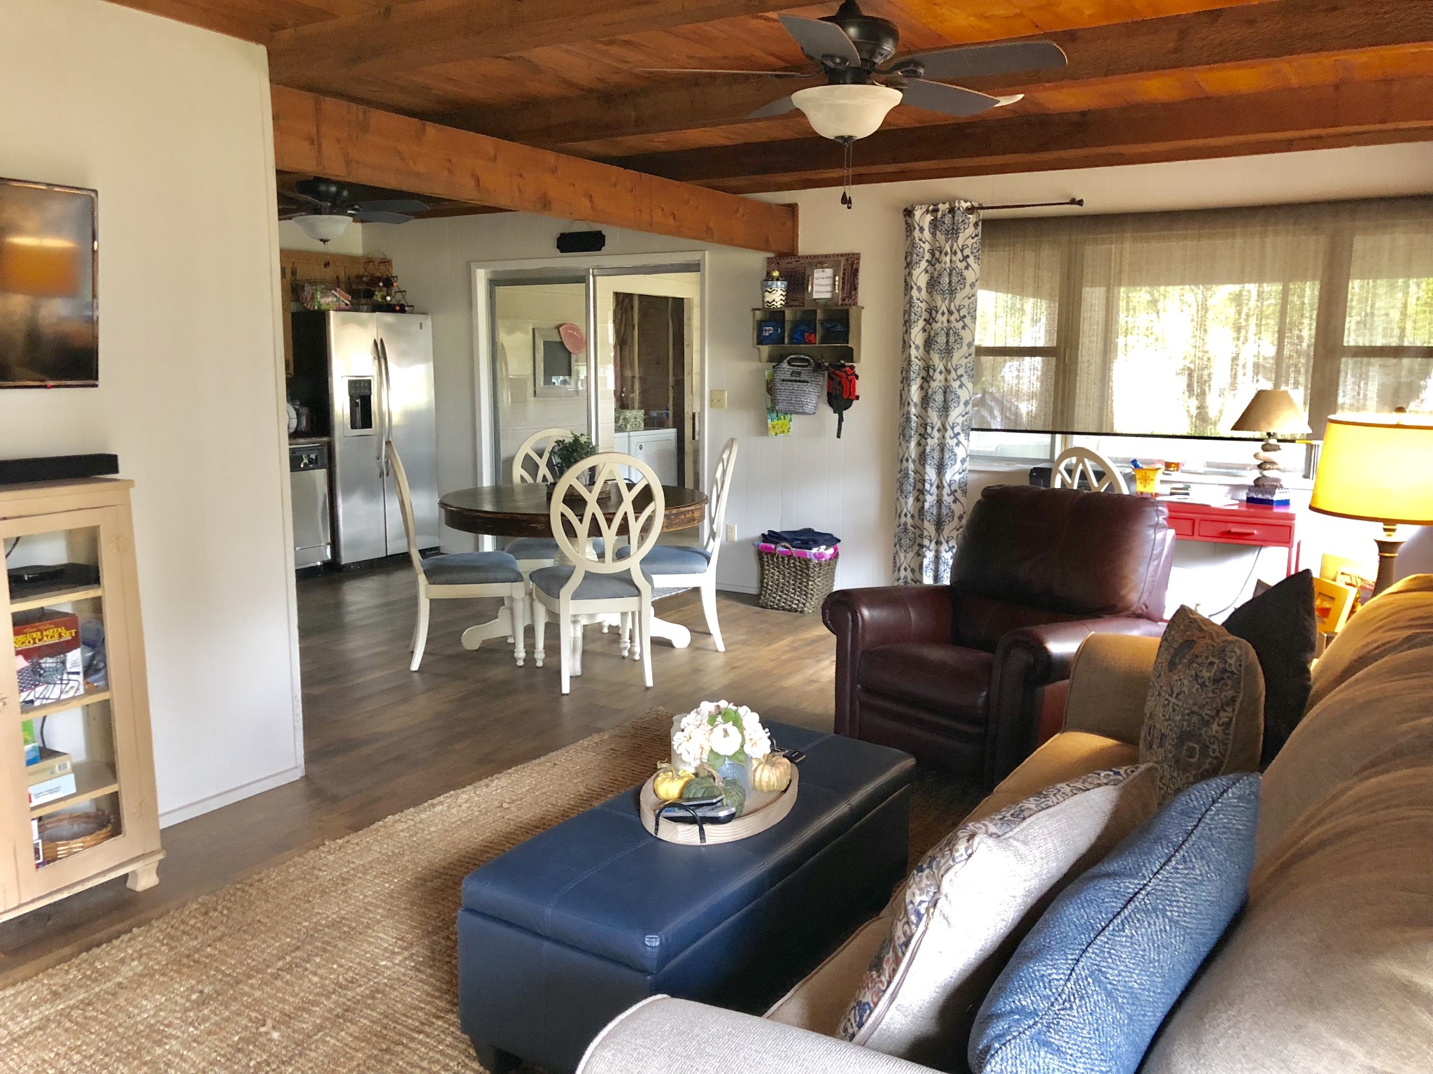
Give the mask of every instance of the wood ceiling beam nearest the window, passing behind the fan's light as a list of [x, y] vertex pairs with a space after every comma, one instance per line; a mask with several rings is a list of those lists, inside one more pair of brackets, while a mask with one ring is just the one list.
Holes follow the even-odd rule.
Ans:
[[[1134, 156], [1238, 156], [1251, 152], [1248, 146], [1283, 152], [1348, 139], [1433, 139], [1433, 79], [883, 130], [856, 143], [856, 169], [867, 182], [888, 182], [1083, 168], [1096, 158], [1125, 163]], [[797, 189], [840, 182], [841, 149], [804, 137], [628, 156], [622, 165], [727, 190]]]

